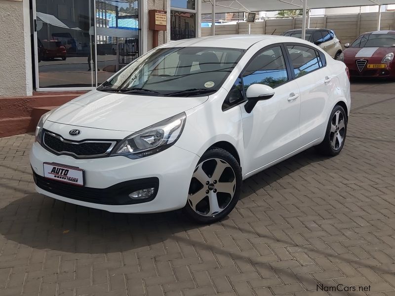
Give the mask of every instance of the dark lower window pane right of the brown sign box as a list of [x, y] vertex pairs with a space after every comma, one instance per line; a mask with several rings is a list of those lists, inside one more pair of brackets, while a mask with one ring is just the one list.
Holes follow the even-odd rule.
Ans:
[[181, 40], [196, 37], [196, 14], [171, 10], [170, 39]]

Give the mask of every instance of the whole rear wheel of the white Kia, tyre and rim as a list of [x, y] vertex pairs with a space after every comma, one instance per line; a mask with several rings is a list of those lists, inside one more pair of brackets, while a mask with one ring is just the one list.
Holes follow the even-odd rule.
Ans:
[[326, 127], [325, 138], [316, 148], [319, 152], [329, 156], [340, 153], [344, 146], [347, 134], [347, 114], [343, 107], [336, 105], [333, 108]]

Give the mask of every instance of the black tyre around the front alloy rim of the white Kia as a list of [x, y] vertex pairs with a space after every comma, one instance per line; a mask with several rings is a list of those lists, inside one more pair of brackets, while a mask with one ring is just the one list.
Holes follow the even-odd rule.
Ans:
[[[204, 154], [201, 156], [197, 166], [204, 162], [205, 160], [211, 159], [211, 158], [218, 158], [222, 159], [225, 162], [227, 162], [231, 168], [233, 169], [233, 172], [235, 173], [235, 180], [236, 180], [236, 186], [234, 190], [234, 195], [231, 201], [225, 208], [222, 210], [222, 212], [212, 215], [212, 216], [202, 216], [195, 212], [195, 210], [192, 209], [191, 204], [189, 200], [187, 201], [187, 204], [183, 208], [183, 213], [193, 222], [201, 223], [201, 224], [209, 224], [209, 223], [214, 223], [222, 220], [225, 218], [236, 206], [237, 201], [240, 197], [241, 193], [241, 185], [242, 185], [242, 176], [241, 176], [241, 168], [239, 163], [237, 162], [236, 158], [226, 151], [225, 149], [222, 148], [210, 148]], [[192, 180], [191, 180], [191, 185], [192, 186]], [[214, 191], [215, 192], [215, 191]]]

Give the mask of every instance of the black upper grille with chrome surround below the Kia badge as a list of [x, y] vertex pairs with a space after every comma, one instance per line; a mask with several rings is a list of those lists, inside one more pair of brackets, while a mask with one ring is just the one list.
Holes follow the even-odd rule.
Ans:
[[44, 131], [43, 145], [56, 154], [70, 154], [76, 158], [107, 156], [117, 141], [70, 141], [54, 133]]

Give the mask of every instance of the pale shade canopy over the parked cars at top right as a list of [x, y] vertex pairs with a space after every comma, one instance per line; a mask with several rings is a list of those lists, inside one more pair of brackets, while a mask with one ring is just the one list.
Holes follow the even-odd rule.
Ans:
[[[303, 0], [215, 0], [216, 13], [301, 9]], [[307, 8], [395, 4], [395, 0], [307, 0]], [[202, 13], [212, 12], [212, 0], [202, 0]]]

